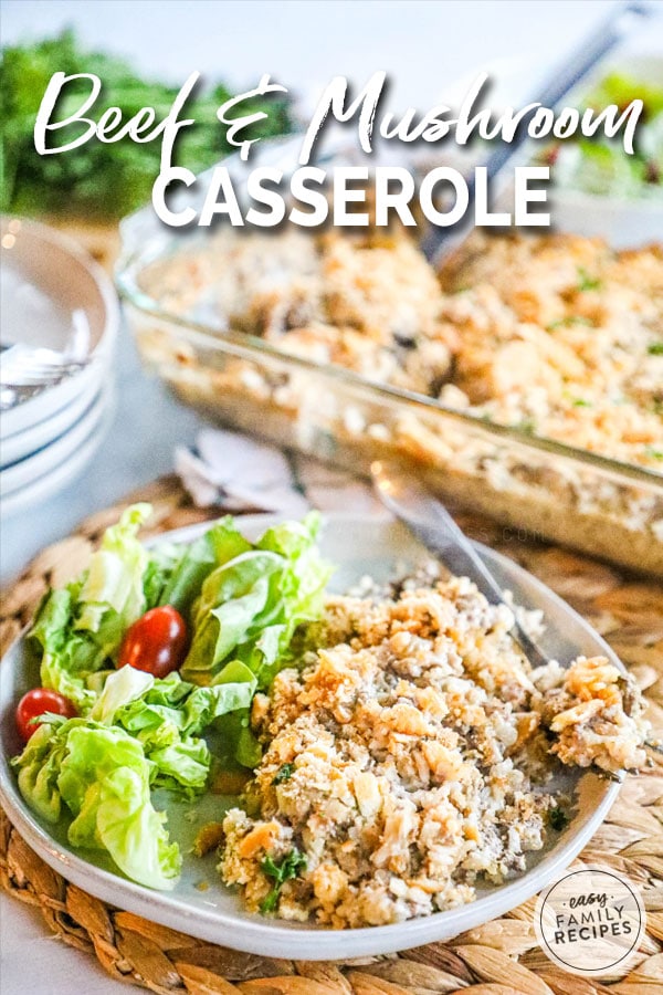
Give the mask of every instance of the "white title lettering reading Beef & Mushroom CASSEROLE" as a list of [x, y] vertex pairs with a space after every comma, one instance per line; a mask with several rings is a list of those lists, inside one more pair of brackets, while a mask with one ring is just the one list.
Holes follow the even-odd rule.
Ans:
[[[81, 97], [73, 113], [60, 118], [62, 97], [72, 84], [80, 93], [80, 81], [88, 84], [88, 93]], [[178, 136], [196, 124], [186, 113], [200, 82], [200, 73], [191, 73], [161, 121], [157, 119], [154, 107], [143, 107], [129, 119], [124, 118], [119, 107], [109, 107], [95, 119], [94, 108], [103, 81], [94, 73], [54, 73], [34, 124], [35, 149], [41, 156], [75, 155], [75, 150], [87, 142], [160, 140], [160, 171], [152, 187], [152, 205], [160, 220], [173, 228], [204, 228], [217, 219], [233, 227], [274, 228], [283, 221], [302, 228], [316, 228], [328, 221], [339, 228], [367, 227], [369, 223], [385, 227], [394, 214], [403, 224], [415, 226], [418, 213], [433, 226], [449, 228], [465, 219], [470, 211], [476, 226], [547, 227], [550, 224], [550, 214], [544, 210], [546, 182], [550, 179], [547, 165], [515, 166], [512, 170], [513, 210], [494, 211], [485, 166], [475, 166], [470, 176], [448, 165], [436, 166], [422, 175], [393, 165], [372, 168], [369, 165], [332, 165], [324, 169], [315, 165], [316, 150], [328, 123], [335, 119], [356, 127], [359, 148], [369, 163], [378, 140], [409, 146], [419, 142], [452, 143], [464, 148], [477, 140], [508, 145], [519, 130], [534, 140], [560, 140], [572, 136], [591, 139], [604, 135], [619, 139], [624, 151], [633, 155], [636, 127], [643, 112], [641, 100], [621, 107], [610, 104], [600, 108], [565, 106], [552, 109], [529, 103], [519, 109], [505, 107], [494, 112], [486, 105], [491, 81], [486, 73], [481, 73], [456, 109], [439, 104], [423, 113], [408, 107], [404, 113], [394, 114], [385, 107], [387, 73], [373, 73], [356, 96], [350, 94], [345, 76], [335, 76], [302, 129], [294, 170], [257, 165], [246, 168], [238, 184], [229, 167], [220, 165], [204, 175], [207, 186], [201, 191], [200, 178], [183, 166], [173, 165]], [[249, 163], [253, 146], [260, 142], [260, 138], [250, 137], [252, 127], [269, 116], [264, 109], [250, 109], [251, 101], [286, 93], [287, 87], [264, 75], [255, 88], [219, 106], [219, 126], [225, 128], [227, 140], [239, 149], [243, 164]], [[71, 137], [72, 128], [75, 137]], [[66, 129], [66, 140], [59, 144], [63, 129]], [[59, 133], [62, 134], [59, 136]], [[361, 209], [367, 205], [369, 188], [372, 219], [368, 210]], [[190, 198], [189, 202], [182, 195]]]

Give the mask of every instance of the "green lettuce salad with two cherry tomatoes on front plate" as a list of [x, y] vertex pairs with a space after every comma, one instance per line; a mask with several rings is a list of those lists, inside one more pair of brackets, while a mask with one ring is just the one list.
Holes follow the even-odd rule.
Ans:
[[191, 544], [147, 549], [137, 533], [150, 512], [129, 507], [87, 570], [40, 606], [29, 639], [41, 688], [18, 704], [25, 746], [12, 763], [27, 803], [49, 823], [66, 818], [73, 846], [171, 889], [182, 857], [152, 790], [193, 800], [212, 765], [260, 762], [252, 699], [319, 616], [330, 569], [316, 513], [254, 544], [225, 517]]

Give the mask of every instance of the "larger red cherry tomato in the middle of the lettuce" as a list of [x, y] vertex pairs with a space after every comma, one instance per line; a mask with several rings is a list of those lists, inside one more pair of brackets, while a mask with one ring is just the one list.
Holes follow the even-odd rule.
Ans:
[[171, 605], [151, 608], [127, 629], [119, 648], [118, 667], [135, 667], [162, 678], [183, 663], [187, 624]]

